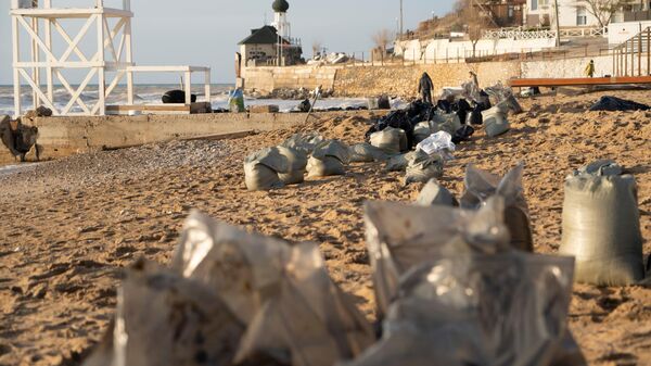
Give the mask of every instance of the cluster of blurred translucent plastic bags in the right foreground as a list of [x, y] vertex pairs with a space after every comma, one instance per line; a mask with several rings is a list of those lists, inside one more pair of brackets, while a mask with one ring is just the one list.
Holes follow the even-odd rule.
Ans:
[[572, 257], [513, 250], [503, 199], [477, 211], [366, 205], [382, 339], [345, 366], [586, 365], [567, 330]]

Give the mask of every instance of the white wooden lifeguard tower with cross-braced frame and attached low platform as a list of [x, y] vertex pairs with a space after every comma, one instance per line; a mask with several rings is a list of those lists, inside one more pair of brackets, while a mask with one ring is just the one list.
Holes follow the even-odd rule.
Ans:
[[[23, 84], [31, 89], [33, 106], [44, 105], [54, 115], [127, 114], [132, 111], [189, 114], [208, 111], [209, 67], [137, 66], [133, 63], [130, 0], [85, 0], [89, 8], [55, 8], [54, 1], [65, 3], [65, 0], [11, 0], [15, 116], [23, 114]], [[105, 7], [105, 2], [117, 3], [117, 7]], [[82, 25], [71, 33], [74, 29], [71, 22]], [[86, 53], [81, 43], [86, 46]], [[91, 54], [88, 54], [88, 45], [91, 45]], [[192, 74], [197, 72], [204, 74], [203, 103], [192, 103], [191, 100]], [[135, 73], [180, 73], [183, 76], [184, 103], [135, 104]], [[85, 76], [78, 83], [72, 83], [72, 77], [79, 75]], [[107, 98], [125, 78], [126, 100], [107, 105]], [[64, 96], [64, 105], [59, 108], [55, 97], [61, 104], [62, 96], [55, 96], [55, 81], [69, 93], [69, 99]], [[88, 104], [88, 98], [85, 101], [82, 93], [94, 91], [97, 101]]]

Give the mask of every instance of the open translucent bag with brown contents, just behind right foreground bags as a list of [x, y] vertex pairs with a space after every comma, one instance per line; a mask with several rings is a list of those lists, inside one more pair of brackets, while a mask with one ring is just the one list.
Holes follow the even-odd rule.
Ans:
[[465, 192], [461, 197], [462, 207], [476, 210], [492, 195], [505, 199], [505, 224], [509, 228], [511, 245], [527, 252], [534, 251], [534, 239], [529, 224], [528, 207], [522, 187], [524, 164], [520, 163], [503, 178], [482, 171], [470, 164], [465, 171]]

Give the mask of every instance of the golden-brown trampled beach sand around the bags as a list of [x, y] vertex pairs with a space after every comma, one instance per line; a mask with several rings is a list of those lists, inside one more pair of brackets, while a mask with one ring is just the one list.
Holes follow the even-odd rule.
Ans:
[[[525, 100], [513, 129], [462, 144], [442, 182], [457, 194], [464, 166], [499, 174], [523, 160], [536, 251], [561, 240], [563, 178], [597, 159], [636, 175], [644, 253], [651, 252], [651, 112], [585, 110], [602, 93]], [[649, 91], [616, 96], [649, 101]], [[349, 143], [367, 121], [310, 123]], [[168, 263], [192, 207], [266, 235], [321, 244], [332, 277], [372, 318], [361, 205], [413, 200], [399, 173], [356, 164], [344, 177], [248, 192], [242, 161], [292, 131], [231, 141], [171, 142], [77, 155], [0, 177], [0, 365], [76, 365], [104, 332], [120, 268], [136, 257]], [[651, 288], [577, 285], [571, 329], [593, 365], [651, 365]]]

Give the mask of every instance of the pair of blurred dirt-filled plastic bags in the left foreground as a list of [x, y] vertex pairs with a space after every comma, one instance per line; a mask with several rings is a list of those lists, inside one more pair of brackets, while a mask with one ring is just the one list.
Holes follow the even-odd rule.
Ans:
[[171, 267], [138, 262], [85, 366], [331, 366], [374, 342], [318, 247], [192, 213]]

